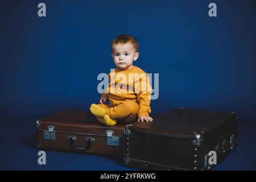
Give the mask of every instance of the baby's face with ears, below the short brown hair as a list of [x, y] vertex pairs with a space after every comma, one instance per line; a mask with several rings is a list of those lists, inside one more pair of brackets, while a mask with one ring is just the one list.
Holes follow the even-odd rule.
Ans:
[[113, 44], [112, 57], [114, 64], [120, 69], [130, 69], [133, 67], [133, 61], [139, 57], [139, 53], [135, 51], [133, 44]]

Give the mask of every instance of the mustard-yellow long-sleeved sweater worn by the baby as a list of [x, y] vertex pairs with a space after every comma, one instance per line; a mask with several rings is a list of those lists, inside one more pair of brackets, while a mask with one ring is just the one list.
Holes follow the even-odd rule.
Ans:
[[138, 117], [148, 116], [151, 113], [150, 78], [141, 68], [122, 70], [115, 68], [109, 73], [109, 84], [102, 94], [109, 98], [110, 105], [115, 106], [125, 100], [134, 100], [139, 105]]

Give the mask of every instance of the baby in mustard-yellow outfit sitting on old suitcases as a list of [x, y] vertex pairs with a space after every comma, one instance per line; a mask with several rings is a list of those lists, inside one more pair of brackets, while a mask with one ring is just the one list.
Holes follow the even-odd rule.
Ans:
[[[151, 122], [151, 86], [147, 73], [135, 67], [139, 57], [138, 41], [130, 35], [119, 35], [112, 41], [112, 57], [117, 68], [109, 73], [109, 84], [90, 111], [98, 121], [108, 126], [117, 122]], [[104, 104], [106, 101], [110, 105]]]

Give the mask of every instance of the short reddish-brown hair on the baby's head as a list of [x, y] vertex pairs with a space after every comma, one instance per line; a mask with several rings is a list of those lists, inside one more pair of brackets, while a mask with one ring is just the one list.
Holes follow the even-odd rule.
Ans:
[[138, 52], [139, 49], [139, 43], [138, 40], [135, 39], [133, 36], [128, 34], [118, 35], [116, 36], [111, 43], [111, 51], [113, 52], [113, 44], [126, 44], [131, 43], [133, 44], [133, 47], [135, 48], [135, 51]]

